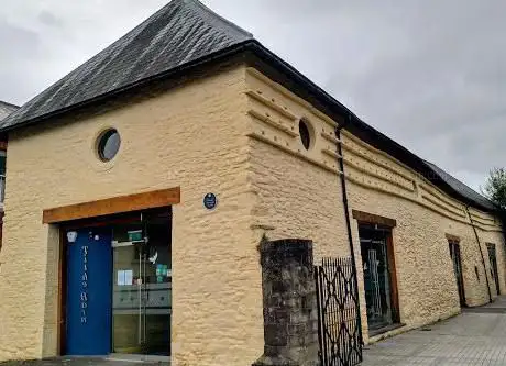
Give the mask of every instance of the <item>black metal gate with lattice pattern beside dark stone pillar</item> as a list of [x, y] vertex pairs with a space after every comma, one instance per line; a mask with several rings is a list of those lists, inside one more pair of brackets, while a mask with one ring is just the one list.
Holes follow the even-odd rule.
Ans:
[[362, 326], [351, 258], [323, 258], [321, 266], [315, 266], [315, 279], [321, 366], [360, 364]]

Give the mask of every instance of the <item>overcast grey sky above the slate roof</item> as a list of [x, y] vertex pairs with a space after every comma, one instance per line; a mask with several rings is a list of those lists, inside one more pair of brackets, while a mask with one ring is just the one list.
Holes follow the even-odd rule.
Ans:
[[[22, 104], [165, 0], [0, 7], [0, 100]], [[506, 166], [503, 0], [205, 0], [365, 122], [477, 189]]]

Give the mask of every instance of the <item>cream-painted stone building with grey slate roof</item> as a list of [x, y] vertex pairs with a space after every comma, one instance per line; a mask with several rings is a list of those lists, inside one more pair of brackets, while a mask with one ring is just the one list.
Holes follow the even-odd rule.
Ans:
[[315, 260], [353, 249], [366, 342], [506, 290], [491, 202], [196, 0], [167, 4], [0, 132], [0, 359], [251, 364], [264, 235], [312, 240]]

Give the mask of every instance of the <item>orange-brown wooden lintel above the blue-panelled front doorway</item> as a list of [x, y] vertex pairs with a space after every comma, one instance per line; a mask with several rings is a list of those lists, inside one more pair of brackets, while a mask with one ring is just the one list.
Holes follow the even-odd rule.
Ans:
[[108, 214], [155, 209], [180, 202], [180, 188], [168, 188], [144, 193], [120, 196], [44, 210], [43, 223], [57, 223]]

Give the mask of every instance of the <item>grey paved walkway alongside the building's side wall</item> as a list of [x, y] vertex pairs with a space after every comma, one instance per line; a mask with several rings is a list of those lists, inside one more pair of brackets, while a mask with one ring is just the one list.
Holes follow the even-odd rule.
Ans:
[[506, 297], [364, 347], [361, 366], [506, 366]]

